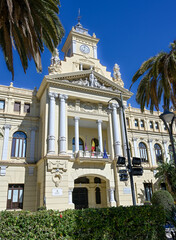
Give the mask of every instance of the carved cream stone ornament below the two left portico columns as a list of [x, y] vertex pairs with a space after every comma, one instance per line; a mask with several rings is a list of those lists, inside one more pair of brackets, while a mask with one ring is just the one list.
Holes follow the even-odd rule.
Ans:
[[65, 161], [49, 161], [48, 171], [52, 174], [52, 181], [56, 187], [59, 187], [62, 181], [63, 173], [67, 171], [67, 162]]

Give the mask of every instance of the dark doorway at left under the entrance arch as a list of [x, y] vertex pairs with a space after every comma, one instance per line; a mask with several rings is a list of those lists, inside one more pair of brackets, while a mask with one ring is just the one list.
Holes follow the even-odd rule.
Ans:
[[88, 208], [88, 191], [87, 188], [73, 189], [73, 203], [75, 209]]

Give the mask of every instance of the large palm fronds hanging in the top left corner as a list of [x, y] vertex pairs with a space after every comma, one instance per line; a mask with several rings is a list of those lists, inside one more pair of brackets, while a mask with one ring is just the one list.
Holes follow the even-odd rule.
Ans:
[[13, 48], [17, 49], [26, 72], [28, 59], [42, 70], [44, 45], [53, 52], [64, 35], [57, 16], [59, 0], [1, 0], [0, 47], [14, 77]]

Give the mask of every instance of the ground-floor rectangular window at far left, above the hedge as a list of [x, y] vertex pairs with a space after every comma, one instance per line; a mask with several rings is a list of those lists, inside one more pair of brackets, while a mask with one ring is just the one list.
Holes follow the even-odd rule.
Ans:
[[24, 184], [9, 184], [7, 209], [23, 209]]

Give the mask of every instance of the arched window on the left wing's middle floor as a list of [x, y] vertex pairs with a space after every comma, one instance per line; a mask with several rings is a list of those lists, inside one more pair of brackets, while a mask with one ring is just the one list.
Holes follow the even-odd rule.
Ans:
[[12, 157], [26, 157], [27, 136], [24, 132], [15, 132], [12, 139]]

